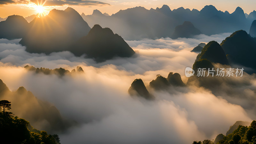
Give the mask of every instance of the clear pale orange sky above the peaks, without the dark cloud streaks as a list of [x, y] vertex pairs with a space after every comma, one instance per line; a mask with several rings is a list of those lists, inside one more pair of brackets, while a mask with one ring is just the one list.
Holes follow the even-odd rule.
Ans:
[[[116, 13], [120, 9], [127, 9], [132, 8], [135, 6], [143, 6], [147, 9], [156, 8], [156, 7], [162, 7], [163, 4], [167, 4], [171, 9], [177, 9], [179, 7], [189, 8], [189, 9], [197, 9], [201, 10], [205, 5], [212, 4], [214, 5], [218, 10], [221, 11], [228, 11], [233, 12], [235, 11], [237, 6], [240, 6], [244, 12], [247, 12], [248, 14], [255, 10], [254, 7], [256, 5], [255, 0], [244, 0], [244, 1], [238, 1], [238, 0], [103, 0], [100, 1], [103, 3], [108, 3], [110, 5], [91, 5], [91, 6], [77, 6], [77, 5], [64, 5], [64, 6], [52, 6], [47, 9], [47, 11], [50, 11], [52, 8], [56, 9], [65, 9], [68, 6], [74, 8], [77, 12], [80, 14], [84, 12], [85, 14], [92, 14], [92, 11], [94, 9], [100, 10], [102, 13], [107, 12], [108, 14]], [[24, 17], [27, 17], [32, 14], [36, 14], [36, 10], [33, 10], [31, 8], [28, 8], [24, 4], [6, 4], [6, 5], [0, 5], [0, 17], [4, 18], [9, 15], [22, 15]]]

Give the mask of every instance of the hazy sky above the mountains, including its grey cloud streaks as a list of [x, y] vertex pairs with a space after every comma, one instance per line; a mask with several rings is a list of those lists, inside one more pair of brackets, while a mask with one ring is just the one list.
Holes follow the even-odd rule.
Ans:
[[[40, 1], [40, 0], [39, 0]], [[43, 0], [42, 0], [43, 1]], [[0, 17], [4, 18], [9, 15], [17, 14], [24, 17], [36, 14], [36, 10], [28, 7], [29, 2], [37, 3], [37, 0], [0, 0]], [[40, 3], [40, 2], [39, 2]], [[143, 6], [147, 9], [162, 7], [167, 4], [172, 10], [179, 7], [201, 10], [205, 5], [214, 5], [218, 10], [234, 12], [237, 6], [240, 6], [244, 12], [250, 13], [255, 10], [255, 0], [47, 0], [44, 6], [48, 6], [46, 12], [52, 8], [65, 9], [70, 6], [80, 14], [91, 14], [94, 9], [100, 10], [102, 13], [116, 13], [120, 9], [132, 8], [135, 6]]]

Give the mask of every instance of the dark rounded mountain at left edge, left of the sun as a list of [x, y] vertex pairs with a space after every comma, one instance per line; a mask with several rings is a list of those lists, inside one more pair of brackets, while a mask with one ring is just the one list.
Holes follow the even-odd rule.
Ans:
[[8, 16], [6, 20], [0, 22], [0, 38], [22, 38], [27, 33], [28, 28], [28, 21], [22, 16]]

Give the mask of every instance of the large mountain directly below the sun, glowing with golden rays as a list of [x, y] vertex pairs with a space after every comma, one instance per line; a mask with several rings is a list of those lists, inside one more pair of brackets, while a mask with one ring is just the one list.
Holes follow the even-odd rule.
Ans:
[[26, 51], [35, 53], [60, 52], [86, 36], [90, 27], [74, 9], [53, 9], [45, 17], [36, 18], [29, 23], [30, 29], [20, 44]]

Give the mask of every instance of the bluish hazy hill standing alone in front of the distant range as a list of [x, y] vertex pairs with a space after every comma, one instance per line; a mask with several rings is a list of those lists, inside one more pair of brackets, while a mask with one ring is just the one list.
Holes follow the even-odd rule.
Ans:
[[193, 36], [200, 35], [200, 34], [202, 34], [201, 31], [195, 28], [191, 22], [185, 21], [182, 25], [177, 26], [175, 28], [171, 38], [172, 39], [176, 39], [179, 37], [192, 38]]

